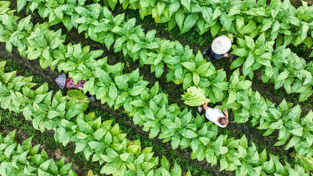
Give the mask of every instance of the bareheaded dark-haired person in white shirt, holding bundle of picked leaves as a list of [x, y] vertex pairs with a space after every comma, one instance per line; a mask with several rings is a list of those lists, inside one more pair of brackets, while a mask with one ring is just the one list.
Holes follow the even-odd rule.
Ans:
[[[203, 110], [204, 109], [204, 110]], [[205, 118], [212, 121], [216, 125], [224, 128], [228, 124], [228, 111], [224, 110], [224, 113], [217, 109], [217, 108], [209, 108], [207, 106], [207, 101], [205, 101], [203, 105], [203, 109], [201, 107], [198, 107], [198, 110], [200, 112], [200, 115], [205, 113]]]

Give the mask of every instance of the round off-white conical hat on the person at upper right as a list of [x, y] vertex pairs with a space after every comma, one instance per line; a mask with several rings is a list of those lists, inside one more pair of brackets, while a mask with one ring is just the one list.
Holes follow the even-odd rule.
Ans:
[[213, 40], [212, 50], [216, 54], [224, 54], [231, 48], [231, 41], [228, 37], [221, 36]]

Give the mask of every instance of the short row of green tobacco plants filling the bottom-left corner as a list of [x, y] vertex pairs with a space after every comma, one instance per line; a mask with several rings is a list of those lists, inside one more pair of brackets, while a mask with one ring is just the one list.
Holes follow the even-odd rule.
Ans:
[[32, 146], [32, 137], [21, 144], [14, 141], [15, 130], [6, 137], [0, 133], [1, 176], [77, 176], [71, 170], [72, 163], [65, 164], [65, 157], [55, 162], [45, 150], [38, 153], [40, 144]]

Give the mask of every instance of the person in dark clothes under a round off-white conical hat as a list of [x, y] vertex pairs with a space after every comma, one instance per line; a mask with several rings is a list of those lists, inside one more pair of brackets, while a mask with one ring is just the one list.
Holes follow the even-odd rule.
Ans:
[[216, 37], [210, 45], [211, 47], [205, 49], [203, 52], [203, 55], [208, 55], [208, 61], [212, 62], [215, 59], [228, 57], [227, 52], [231, 48], [231, 41], [228, 37]]

